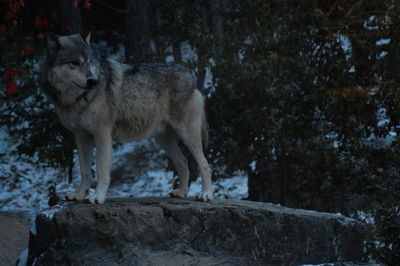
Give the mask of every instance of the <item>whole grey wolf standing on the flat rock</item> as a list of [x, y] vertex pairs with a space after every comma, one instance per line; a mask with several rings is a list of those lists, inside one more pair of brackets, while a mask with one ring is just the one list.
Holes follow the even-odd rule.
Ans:
[[[185, 197], [189, 170], [178, 141], [193, 155], [202, 177], [197, 198], [213, 199], [211, 170], [203, 147], [208, 142], [204, 97], [182, 65], [128, 65], [99, 58], [90, 34], [52, 36], [47, 40], [42, 88], [61, 123], [76, 141], [81, 183], [69, 200], [102, 204], [110, 184], [112, 142], [155, 138], [171, 158], [179, 186], [172, 197]], [[97, 186], [87, 195], [96, 148]]]

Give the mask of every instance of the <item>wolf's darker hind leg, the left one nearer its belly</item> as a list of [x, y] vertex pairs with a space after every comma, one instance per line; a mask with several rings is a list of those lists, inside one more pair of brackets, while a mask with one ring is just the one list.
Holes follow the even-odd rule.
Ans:
[[179, 187], [172, 190], [169, 195], [178, 198], [186, 197], [189, 184], [189, 169], [187, 160], [178, 146], [175, 132], [173, 132], [172, 128], [167, 128], [163, 134], [157, 136], [156, 140], [171, 158], [179, 175]]

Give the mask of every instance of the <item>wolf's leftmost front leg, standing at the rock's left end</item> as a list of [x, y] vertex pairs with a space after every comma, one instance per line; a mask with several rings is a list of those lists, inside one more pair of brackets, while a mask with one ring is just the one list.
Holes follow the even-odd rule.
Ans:
[[75, 190], [75, 192], [67, 196], [67, 199], [81, 201], [86, 197], [86, 192], [90, 187], [94, 141], [90, 135], [81, 133], [75, 134], [75, 141], [79, 151], [81, 184]]

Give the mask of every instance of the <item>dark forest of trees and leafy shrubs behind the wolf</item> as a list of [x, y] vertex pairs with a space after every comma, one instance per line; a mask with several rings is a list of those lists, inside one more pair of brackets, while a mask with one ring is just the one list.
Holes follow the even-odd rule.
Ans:
[[189, 49], [213, 168], [245, 171], [249, 200], [368, 214], [369, 253], [400, 264], [400, 1], [1, 0], [0, 17], [1, 126], [21, 156], [72, 179], [38, 80], [49, 32], [92, 31], [133, 63]]

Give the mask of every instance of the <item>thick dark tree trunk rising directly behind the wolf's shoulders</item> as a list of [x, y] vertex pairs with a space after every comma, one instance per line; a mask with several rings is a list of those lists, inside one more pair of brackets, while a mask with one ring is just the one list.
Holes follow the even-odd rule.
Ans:
[[145, 62], [150, 58], [150, 1], [127, 0], [126, 6], [126, 60]]

